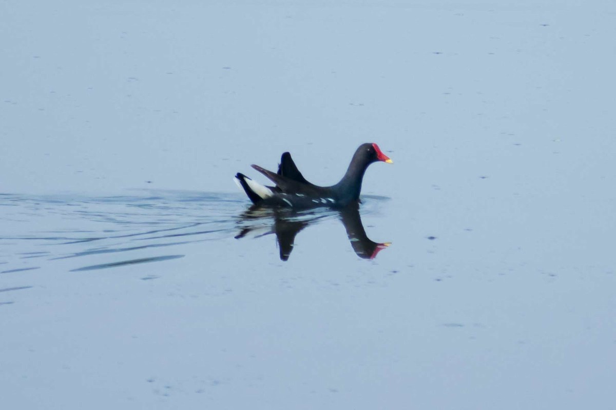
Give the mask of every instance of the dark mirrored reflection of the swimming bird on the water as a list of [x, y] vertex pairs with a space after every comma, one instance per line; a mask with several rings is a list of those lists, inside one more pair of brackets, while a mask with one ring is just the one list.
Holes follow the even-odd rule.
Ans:
[[[347, 237], [357, 256], [363, 259], [374, 259], [379, 251], [391, 245], [389, 242], [378, 243], [368, 239], [363, 228], [362, 218], [359, 215], [359, 204], [352, 204], [341, 210], [327, 211], [292, 211], [288, 208], [261, 208], [251, 207], [241, 213], [238, 225], [240, 233], [235, 239], [248, 234], [261, 237], [275, 234], [280, 250], [280, 259], [289, 259], [297, 234], [309, 225], [318, 223], [322, 219], [331, 219], [338, 216], [346, 229]], [[273, 224], [272, 224], [273, 220]]]

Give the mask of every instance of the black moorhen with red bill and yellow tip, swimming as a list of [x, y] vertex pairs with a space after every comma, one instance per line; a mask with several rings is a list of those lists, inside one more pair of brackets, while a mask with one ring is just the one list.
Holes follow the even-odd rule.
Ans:
[[285, 152], [280, 158], [278, 172], [265, 170], [259, 165], [253, 168], [271, 179], [275, 186], [264, 186], [242, 173], [235, 175], [235, 182], [257, 206], [266, 207], [346, 207], [349, 203], [359, 200], [362, 190], [363, 173], [373, 162], [394, 162], [389, 159], [378, 145], [362, 144], [357, 148], [351, 164], [338, 184], [332, 186], [317, 186], [309, 183], [299, 172], [291, 154]]

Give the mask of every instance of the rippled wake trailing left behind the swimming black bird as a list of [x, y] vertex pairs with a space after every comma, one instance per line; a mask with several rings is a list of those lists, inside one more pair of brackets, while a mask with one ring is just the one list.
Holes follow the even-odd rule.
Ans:
[[[376, 212], [376, 204], [386, 199], [362, 197], [362, 214]], [[240, 193], [136, 191], [136, 195], [110, 197], [3, 194], [1, 273], [26, 274], [41, 267], [54, 270], [57, 267], [52, 264], [62, 259], [75, 260], [76, 266], [63, 268], [70, 272], [168, 261], [182, 258], [184, 253], [157, 251], [239, 237], [248, 231], [258, 232], [259, 227], [264, 234], [272, 233], [272, 210], [246, 213], [249, 205]], [[284, 213], [283, 217], [286, 224], [303, 227], [339, 219], [340, 215], [328, 208], [318, 208]], [[288, 258], [290, 251], [285, 252], [284, 257]], [[23, 262], [30, 258], [36, 258], [37, 266], [24, 267]]]

